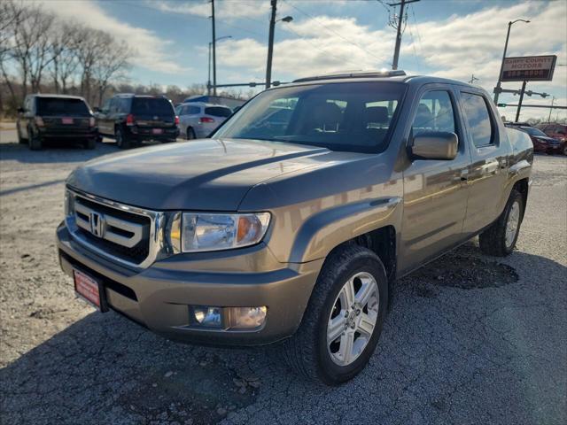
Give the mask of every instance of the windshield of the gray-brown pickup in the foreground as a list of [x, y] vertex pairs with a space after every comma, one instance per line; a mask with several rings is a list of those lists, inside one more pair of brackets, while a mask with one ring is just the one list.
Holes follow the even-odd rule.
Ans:
[[404, 91], [404, 84], [387, 81], [272, 89], [246, 104], [214, 137], [383, 151]]

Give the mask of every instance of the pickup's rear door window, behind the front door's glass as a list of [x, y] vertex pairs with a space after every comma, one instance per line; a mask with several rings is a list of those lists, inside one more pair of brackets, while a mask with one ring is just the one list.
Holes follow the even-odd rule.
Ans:
[[464, 118], [470, 128], [470, 136], [476, 147], [494, 143], [493, 121], [490, 119], [485, 98], [472, 93], [461, 93]]

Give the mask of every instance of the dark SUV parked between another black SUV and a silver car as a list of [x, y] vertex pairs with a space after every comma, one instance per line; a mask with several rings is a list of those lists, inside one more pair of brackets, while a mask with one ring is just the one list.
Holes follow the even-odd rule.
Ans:
[[120, 149], [155, 140], [175, 142], [179, 118], [167, 97], [116, 95], [96, 109], [98, 133], [112, 137]]

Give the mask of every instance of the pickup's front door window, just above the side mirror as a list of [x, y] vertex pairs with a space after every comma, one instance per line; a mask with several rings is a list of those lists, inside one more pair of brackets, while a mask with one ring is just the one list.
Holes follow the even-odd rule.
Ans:
[[423, 95], [417, 105], [412, 130], [414, 135], [427, 131], [456, 133], [453, 103], [447, 91], [429, 91]]

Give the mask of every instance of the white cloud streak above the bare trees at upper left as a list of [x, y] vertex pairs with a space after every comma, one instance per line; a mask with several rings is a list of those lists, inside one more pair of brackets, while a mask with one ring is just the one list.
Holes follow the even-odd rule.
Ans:
[[153, 31], [133, 27], [123, 21], [114, 19], [104, 12], [94, 2], [84, 0], [81, 2], [68, 2], [63, 0], [42, 0], [39, 2], [45, 10], [55, 13], [63, 20], [76, 20], [83, 24], [102, 29], [114, 35], [119, 41], [128, 42], [135, 52], [134, 63], [152, 71], [160, 73], [185, 73], [183, 68], [175, 62], [175, 58], [167, 53], [167, 47], [173, 42], [164, 40]]

